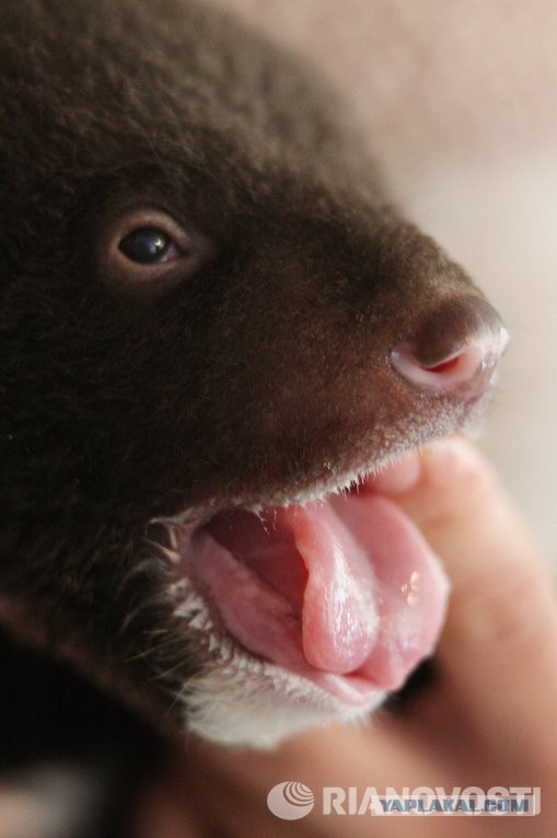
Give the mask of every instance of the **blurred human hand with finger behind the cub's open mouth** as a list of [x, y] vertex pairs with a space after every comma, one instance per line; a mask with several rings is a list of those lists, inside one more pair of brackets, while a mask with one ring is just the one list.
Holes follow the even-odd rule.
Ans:
[[[134, 838], [546, 838], [557, 834], [557, 597], [553, 570], [478, 450], [454, 437], [376, 479], [419, 526], [452, 582], [437, 679], [367, 727], [334, 726], [274, 753], [181, 742], [146, 794]], [[537, 817], [384, 817], [314, 812], [282, 822], [269, 789], [324, 785], [542, 789]]]

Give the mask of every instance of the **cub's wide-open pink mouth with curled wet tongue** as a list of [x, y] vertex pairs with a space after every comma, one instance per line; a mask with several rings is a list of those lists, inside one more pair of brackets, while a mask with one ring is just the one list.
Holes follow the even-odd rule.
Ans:
[[194, 577], [244, 653], [352, 707], [401, 687], [431, 654], [449, 585], [415, 525], [370, 480], [318, 501], [221, 512], [176, 527]]

